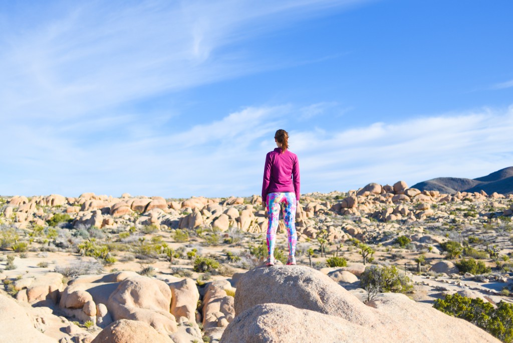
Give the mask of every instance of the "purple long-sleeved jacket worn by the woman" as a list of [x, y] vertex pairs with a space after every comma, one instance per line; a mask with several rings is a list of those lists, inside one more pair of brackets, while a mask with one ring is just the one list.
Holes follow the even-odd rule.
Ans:
[[275, 148], [265, 157], [262, 200], [275, 192], [294, 192], [297, 200], [300, 196], [298, 156], [289, 150], [282, 154], [282, 148]]

